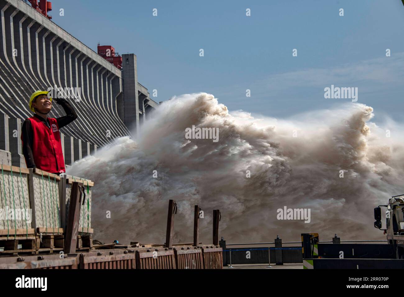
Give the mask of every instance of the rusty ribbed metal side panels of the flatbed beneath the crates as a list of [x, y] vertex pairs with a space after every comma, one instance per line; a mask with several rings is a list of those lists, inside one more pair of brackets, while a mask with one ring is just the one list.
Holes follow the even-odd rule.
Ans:
[[[183, 248], [183, 249], [182, 249]], [[222, 249], [107, 249], [68, 255], [0, 257], [0, 269], [222, 269]]]

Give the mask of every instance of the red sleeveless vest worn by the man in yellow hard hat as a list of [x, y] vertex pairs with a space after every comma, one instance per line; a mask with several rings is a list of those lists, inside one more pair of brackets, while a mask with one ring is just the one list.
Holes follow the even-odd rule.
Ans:
[[57, 120], [48, 118], [50, 129], [35, 116], [29, 120], [34, 134], [32, 154], [36, 168], [50, 173], [66, 172]]

